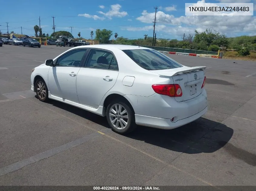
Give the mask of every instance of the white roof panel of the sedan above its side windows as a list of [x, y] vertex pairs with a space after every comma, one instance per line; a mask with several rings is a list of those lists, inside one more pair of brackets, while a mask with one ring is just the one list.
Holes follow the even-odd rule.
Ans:
[[121, 44], [95, 44], [95, 45], [85, 45], [85, 46], [77, 46], [75, 48], [99, 48], [106, 50], [131, 50], [131, 49], [150, 49], [142, 46], [134, 46], [134, 45], [121, 45]]

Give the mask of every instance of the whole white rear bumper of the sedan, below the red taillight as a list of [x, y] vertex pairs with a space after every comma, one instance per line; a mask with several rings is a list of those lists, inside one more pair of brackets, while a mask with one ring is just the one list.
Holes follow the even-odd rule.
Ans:
[[[138, 125], [160, 129], [174, 129], [190, 123], [207, 112], [207, 93], [191, 100], [177, 102], [173, 97], [153, 94], [149, 97], [125, 95], [135, 112]], [[173, 121], [171, 119], [173, 118]]]

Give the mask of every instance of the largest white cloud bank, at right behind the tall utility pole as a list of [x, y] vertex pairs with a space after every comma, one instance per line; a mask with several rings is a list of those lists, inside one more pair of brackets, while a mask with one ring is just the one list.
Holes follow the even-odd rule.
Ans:
[[[202, 0], [201, 2], [204, 2]], [[255, 7], [255, 5], [254, 5]], [[142, 23], [151, 24], [154, 21], [155, 12], [143, 11], [141, 16], [136, 18]], [[159, 27], [161, 26], [161, 27]], [[165, 27], [163, 27], [165, 26]], [[157, 29], [158, 28], [158, 29]], [[206, 28], [211, 28], [227, 36], [236, 36], [238, 33], [255, 34], [256, 32], [256, 17], [255, 16], [180, 16], [175, 17], [172, 14], [166, 14], [163, 11], [158, 11], [156, 14], [156, 29], [159, 32], [178, 35], [181, 33], [194, 34], [194, 30], [204, 31]], [[122, 27], [123, 30], [141, 31], [152, 30], [151, 26], [142, 27]], [[180, 34], [180, 35], [181, 35]]]

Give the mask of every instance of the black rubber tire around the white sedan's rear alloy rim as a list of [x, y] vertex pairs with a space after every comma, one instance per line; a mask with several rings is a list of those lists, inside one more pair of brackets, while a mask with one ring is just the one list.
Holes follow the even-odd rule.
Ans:
[[[110, 115], [109, 115], [110, 112], [109, 111], [110, 111], [111, 107], [114, 106], [115, 104], [121, 105], [126, 110], [126, 113], [127, 113], [127, 116], [128, 116], [128, 121], [127, 121], [127, 126], [124, 129], [117, 129], [111, 123], [111, 119], [110, 119]], [[113, 100], [113, 101], [111, 101], [111, 103], [108, 104], [108, 107], [107, 107], [107, 110], [106, 110], [106, 117], [107, 117], [108, 124], [112, 128], [112, 130], [117, 132], [117, 133], [119, 133], [119, 134], [130, 133], [130, 132], [134, 131], [136, 129], [136, 127], [137, 127], [137, 125], [135, 123], [134, 111], [132, 110], [130, 104], [127, 103], [127, 101], [123, 100], [123, 99]], [[120, 119], [117, 119], [117, 120], [120, 121], [120, 120], [125, 120], [125, 119], [124, 118], [123, 119], [120, 118]], [[120, 124], [120, 127], [121, 127], [121, 124]]]

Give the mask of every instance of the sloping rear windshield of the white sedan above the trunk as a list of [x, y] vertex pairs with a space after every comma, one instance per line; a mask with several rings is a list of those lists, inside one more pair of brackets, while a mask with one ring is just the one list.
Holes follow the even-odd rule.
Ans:
[[181, 64], [168, 56], [151, 49], [123, 50], [134, 62], [146, 70], [180, 68]]

